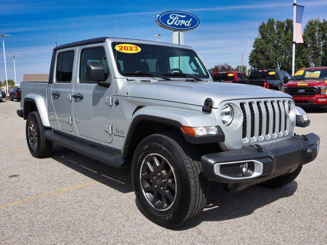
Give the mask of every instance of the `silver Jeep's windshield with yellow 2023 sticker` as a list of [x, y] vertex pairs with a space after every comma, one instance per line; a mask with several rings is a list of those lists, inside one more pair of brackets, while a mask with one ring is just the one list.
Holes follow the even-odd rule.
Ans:
[[[149, 77], [152, 74], [176, 77], [170, 73], [209, 78], [209, 74], [198, 55], [187, 48], [144, 44], [113, 42], [117, 68], [121, 75], [128, 77]], [[141, 73], [144, 72], [143, 74]], [[186, 77], [185, 77], [186, 78]]]

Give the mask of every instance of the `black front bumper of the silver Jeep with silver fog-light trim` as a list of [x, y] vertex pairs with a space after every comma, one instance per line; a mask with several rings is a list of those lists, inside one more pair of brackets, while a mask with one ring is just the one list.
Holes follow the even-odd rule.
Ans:
[[[263, 146], [243, 146], [239, 150], [212, 153], [202, 156], [202, 171], [209, 180], [235, 184], [231, 191], [258, 184], [294, 171], [298, 166], [313, 161], [319, 150], [319, 137], [313, 133], [295, 135], [290, 139]], [[253, 162], [259, 171], [252, 176], [222, 175], [220, 167]], [[229, 165], [230, 164], [230, 165]]]

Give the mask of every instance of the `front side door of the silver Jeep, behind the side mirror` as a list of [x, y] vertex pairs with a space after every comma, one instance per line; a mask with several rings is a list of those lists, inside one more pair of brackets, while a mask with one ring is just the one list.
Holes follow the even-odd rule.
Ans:
[[[86, 78], [86, 65], [90, 62], [102, 63], [105, 69], [107, 81], [113, 81], [110, 66], [108, 66], [105, 46], [91, 44], [80, 46], [78, 51], [79, 67], [76, 71], [73, 112], [74, 123], [78, 134], [111, 143], [113, 140], [112, 129], [113, 106], [113, 84], [109, 88], [101, 87], [94, 81]], [[81, 96], [82, 95], [82, 96]]]

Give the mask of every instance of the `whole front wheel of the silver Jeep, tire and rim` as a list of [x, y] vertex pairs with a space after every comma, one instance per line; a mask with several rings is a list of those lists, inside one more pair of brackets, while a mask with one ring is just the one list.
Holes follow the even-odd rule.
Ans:
[[154, 134], [138, 145], [132, 163], [136, 197], [144, 215], [166, 228], [197, 218], [207, 200], [199, 155], [182, 138]]

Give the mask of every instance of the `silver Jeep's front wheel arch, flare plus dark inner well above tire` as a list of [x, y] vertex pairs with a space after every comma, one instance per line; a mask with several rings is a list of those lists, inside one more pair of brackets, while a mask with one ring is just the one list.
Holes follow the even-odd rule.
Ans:
[[[225, 136], [220, 135], [191, 136], [182, 131], [182, 126], [207, 127], [217, 126], [214, 116], [189, 109], [146, 106], [139, 109], [130, 120], [128, 133], [122, 149], [124, 158], [132, 156], [138, 143], [145, 137], [162, 132], [176, 133], [191, 144], [210, 144], [222, 142]], [[219, 126], [217, 126], [219, 127]], [[220, 128], [220, 127], [219, 127]]]

